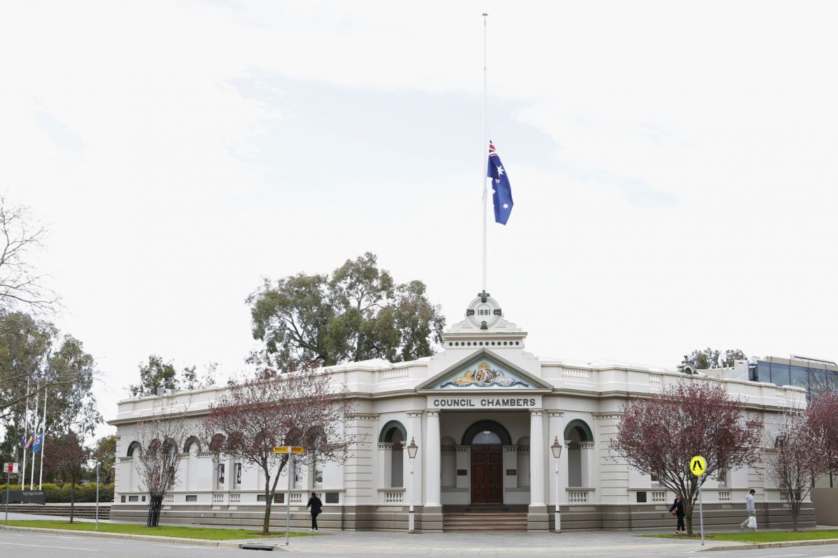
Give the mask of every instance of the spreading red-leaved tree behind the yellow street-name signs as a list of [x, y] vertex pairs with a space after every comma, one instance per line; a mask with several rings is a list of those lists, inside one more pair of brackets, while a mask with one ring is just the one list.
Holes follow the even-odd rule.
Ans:
[[[265, 481], [262, 533], [270, 531], [271, 505], [277, 481], [288, 463], [276, 446], [301, 446], [303, 463], [342, 463], [352, 443], [344, 423], [353, 411], [346, 387], [335, 385], [328, 371], [306, 369], [277, 375], [270, 371], [246, 381], [230, 382], [225, 395], [204, 417], [204, 441], [211, 451], [223, 450], [261, 470]], [[218, 441], [224, 438], [219, 447]], [[290, 498], [290, 495], [288, 496]]]

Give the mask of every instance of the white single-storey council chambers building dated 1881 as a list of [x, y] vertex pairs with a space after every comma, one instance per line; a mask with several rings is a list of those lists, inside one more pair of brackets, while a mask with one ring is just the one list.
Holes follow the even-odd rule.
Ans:
[[[609, 442], [620, 409], [631, 397], [677, 381], [701, 381], [676, 370], [617, 364], [579, 364], [525, 351], [526, 333], [504, 320], [489, 294], [468, 305], [466, 317], [444, 335], [444, 350], [411, 362], [353, 362], [333, 366], [357, 409], [346, 424], [360, 437], [347, 463], [300, 467], [277, 485], [277, 504], [292, 504], [294, 524], [307, 525], [305, 504], [323, 499], [320, 525], [346, 530], [404, 530], [416, 504], [416, 529], [553, 529], [556, 499], [561, 529], [671, 526], [674, 494], [648, 475], [613, 460]], [[771, 415], [804, 404], [804, 390], [772, 383], [723, 380], [749, 412]], [[199, 420], [223, 387], [166, 396]], [[137, 475], [133, 425], [160, 408], [162, 397], [119, 403], [116, 496], [111, 519], [144, 520], [146, 495]], [[419, 446], [412, 468], [404, 449]], [[558, 459], [551, 443], [564, 446]], [[181, 482], [163, 502], [163, 521], [261, 525], [260, 472], [234, 455], [209, 452], [197, 438], [181, 450]], [[304, 470], [303, 470], [304, 469]], [[411, 484], [415, 488], [411, 489]], [[737, 469], [708, 479], [703, 498], [708, 525], [744, 519], [748, 489], [757, 490], [761, 527], [788, 525], [789, 515], [764, 468]], [[284, 507], [284, 506], [282, 506]], [[284, 525], [281, 506], [272, 522]], [[814, 525], [809, 504], [803, 525]]]

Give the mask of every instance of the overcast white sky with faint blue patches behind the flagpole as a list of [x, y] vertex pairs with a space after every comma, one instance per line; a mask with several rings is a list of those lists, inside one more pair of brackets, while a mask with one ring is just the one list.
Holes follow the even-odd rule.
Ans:
[[244, 370], [265, 276], [369, 250], [460, 320], [484, 11], [488, 290], [529, 351], [838, 358], [835, 3], [8, 4], [0, 185], [106, 417], [151, 353]]

